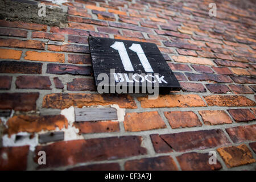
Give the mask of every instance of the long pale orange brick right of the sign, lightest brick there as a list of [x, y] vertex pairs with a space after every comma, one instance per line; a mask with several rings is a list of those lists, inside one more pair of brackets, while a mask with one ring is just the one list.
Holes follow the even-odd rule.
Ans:
[[211, 60], [209, 60], [207, 58], [201, 58], [201, 57], [172, 56], [172, 59], [174, 59], [174, 61], [180, 62], [180, 63], [214, 65]]

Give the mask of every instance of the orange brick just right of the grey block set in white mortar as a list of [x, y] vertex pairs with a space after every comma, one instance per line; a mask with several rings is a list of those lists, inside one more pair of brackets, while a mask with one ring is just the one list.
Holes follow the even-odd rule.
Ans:
[[157, 111], [127, 113], [123, 122], [126, 131], [144, 131], [166, 128]]

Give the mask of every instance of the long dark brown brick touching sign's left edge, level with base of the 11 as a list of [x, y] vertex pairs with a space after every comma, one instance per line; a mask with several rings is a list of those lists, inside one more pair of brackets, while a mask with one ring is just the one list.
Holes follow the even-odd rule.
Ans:
[[47, 64], [46, 73], [64, 75], [92, 75], [92, 67], [81, 67], [71, 64]]

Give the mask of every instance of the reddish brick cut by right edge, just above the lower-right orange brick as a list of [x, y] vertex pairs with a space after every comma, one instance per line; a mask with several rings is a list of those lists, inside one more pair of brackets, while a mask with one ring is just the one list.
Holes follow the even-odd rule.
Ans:
[[234, 143], [256, 140], [256, 125], [230, 127], [226, 129], [226, 132], [228, 132], [229, 137]]

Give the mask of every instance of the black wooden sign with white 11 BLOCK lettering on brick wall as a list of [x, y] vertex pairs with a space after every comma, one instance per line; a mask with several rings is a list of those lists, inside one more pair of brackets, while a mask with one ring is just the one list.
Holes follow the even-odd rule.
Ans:
[[126, 88], [126, 93], [134, 92], [134, 88], [148, 92], [150, 86], [160, 93], [181, 89], [154, 43], [90, 36], [89, 47], [96, 86], [104, 85], [104, 93], [119, 93], [117, 87]]

